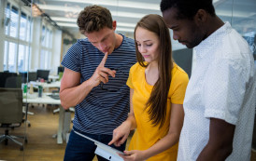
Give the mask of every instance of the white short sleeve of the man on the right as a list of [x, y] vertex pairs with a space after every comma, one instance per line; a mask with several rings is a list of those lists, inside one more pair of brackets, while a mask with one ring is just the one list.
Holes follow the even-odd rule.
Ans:
[[242, 106], [247, 72], [237, 60], [214, 60], [206, 74], [203, 102], [205, 117], [214, 117], [235, 125]]

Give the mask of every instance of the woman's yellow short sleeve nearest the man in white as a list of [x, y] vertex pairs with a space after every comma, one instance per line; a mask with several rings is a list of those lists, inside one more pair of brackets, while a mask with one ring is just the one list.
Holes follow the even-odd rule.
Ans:
[[169, 89], [169, 98], [175, 104], [183, 104], [186, 88], [189, 83], [189, 76], [185, 72], [178, 71], [178, 74], [173, 75], [171, 87]]

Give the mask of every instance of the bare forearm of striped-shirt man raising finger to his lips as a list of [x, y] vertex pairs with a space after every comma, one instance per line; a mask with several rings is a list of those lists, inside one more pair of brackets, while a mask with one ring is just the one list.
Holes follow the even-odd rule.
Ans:
[[66, 88], [60, 92], [60, 98], [64, 109], [74, 107], [84, 100], [85, 97], [91, 92], [92, 84], [87, 80], [77, 87]]

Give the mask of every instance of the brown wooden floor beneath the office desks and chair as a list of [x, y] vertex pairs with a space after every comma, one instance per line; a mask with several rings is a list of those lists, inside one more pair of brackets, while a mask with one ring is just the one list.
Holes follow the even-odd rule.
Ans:
[[[58, 114], [52, 114], [56, 106], [35, 106], [29, 107], [29, 111], [34, 115], [28, 115], [31, 127], [17, 127], [10, 130], [10, 134], [23, 135], [26, 131], [28, 143], [24, 150], [20, 151], [20, 146], [12, 141], [0, 143], [0, 160], [7, 161], [62, 161], [64, 159], [64, 144], [57, 144], [52, 135], [57, 133]], [[73, 114], [72, 114], [73, 115]], [[72, 125], [71, 125], [72, 126]], [[0, 134], [4, 133], [4, 128], [0, 128]], [[21, 140], [20, 140], [21, 141]], [[93, 161], [97, 159], [94, 158]], [[256, 152], [251, 154], [250, 161], [256, 161]]]

